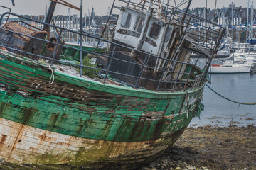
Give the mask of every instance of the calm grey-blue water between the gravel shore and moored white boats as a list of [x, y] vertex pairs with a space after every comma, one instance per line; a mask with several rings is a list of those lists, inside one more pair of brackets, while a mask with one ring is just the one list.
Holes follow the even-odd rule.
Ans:
[[[210, 87], [234, 101], [256, 103], [256, 74], [211, 74]], [[209, 84], [208, 84], [209, 85]], [[205, 87], [201, 118], [194, 118], [190, 126], [198, 125], [256, 125], [256, 106], [244, 106], [221, 98]]]

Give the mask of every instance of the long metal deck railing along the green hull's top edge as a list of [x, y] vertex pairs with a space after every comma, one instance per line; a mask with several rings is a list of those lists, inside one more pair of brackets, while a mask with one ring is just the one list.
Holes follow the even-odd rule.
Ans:
[[[41, 38], [36, 38], [36, 37], [33, 37], [31, 35], [25, 35], [23, 33], [16, 33], [12, 30], [7, 30], [7, 29], [4, 29], [2, 28], [2, 23], [3, 23], [3, 18], [4, 16], [16, 16], [18, 18], [23, 18], [23, 21], [26, 20], [26, 21], [32, 21], [32, 22], [35, 22], [35, 23], [41, 23], [41, 24], [44, 24], [50, 28], [53, 28], [55, 30], [58, 30], [58, 36], [56, 37], [57, 41], [56, 42], [52, 42], [52, 41], [49, 41], [49, 40], [46, 40], [46, 39], [41, 39]], [[69, 64], [69, 65], [72, 65], [73, 67], [78, 67], [81, 72], [81, 69], [83, 68], [87, 68], [87, 69], [94, 69], [95, 71], [98, 72], [98, 75], [100, 77], [102, 77], [102, 81], [106, 82], [107, 79], [111, 79], [109, 77], [109, 75], [112, 75], [112, 74], [117, 74], [117, 75], [121, 75], [123, 77], [130, 77], [132, 79], [134, 79], [135, 81], [132, 82], [132, 83], [127, 83], [129, 86], [132, 86], [134, 88], [143, 88], [143, 86], [141, 86], [140, 82], [141, 81], [148, 81], [149, 84], [157, 84], [156, 86], [154, 86], [154, 89], [150, 89], [150, 90], [155, 90], [155, 91], [161, 91], [161, 90], [184, 90], [184, 89], [190, 89], [190, 88], [194, 88], [196, 86], [201, 86], [203, 84], [203, 81], [201, 81], [200, 84], [196, 84], [196, 86], [193, 86], [193, 84], [191, 84], [191, 81], [188, 81], [189, 78], [191, 77], [191, 71], [192, 69], [188, 69], [186, 71], [182, 71], [181, 69], [179, 69], [178, 71], [175, 71], [175, 70], [169, 70], [167, 69], [167, 63], [174, 63], [174, 64], [179, 64], [181, 68], [183, 67], [190, 67], [192, 68], [194, 66], [194, 64], [192, 64], [191, 62], [180, 62], [178, 60], [169, 60], [169, 59], [166, 59], [166, 58], [162, 58], [162, 57], [159, 57], [159, 56], [156, 56], [156, 55], [152, 55], [148, 52], [143, 52], [143, 51], [139, 51], [139, 50], [134, 50], [134, 48], [132, 47], [127, 47], [127, 46], [124, 46], [124, 45], [119, 45], [115, 42], [111, 42], [109, 40], [104, 40], [102, 38], [97, 38], [95, 37], [94, 35], [91, 35], [91, 34], [88, 34], [88, 33], [85, 33], [84, 31], [75, 31], [75, 30], [69, 30], [67, 28], [60, 28], [58, 26], [53, 26], [51, 24], [48, 24], [48, 23], [43, 23], [41, 21], [35, 21], [31, 18], [26, 18], [26, 17], [23, 17], [23, 16], [19, 16], [15, 13], [9, 13], [9, 12], [6, 12], [6, 13], [3, 13], [3, 15], [1, 16], [0, 18], [0, 24], [1, 24], [1, 28], [0, 30], [1, 31], [6, 31], [6, 32], [9, 32], [9, 33], [13, 33], [13, 34], [16, 34], [16, 35], [22, 35], [24, 37], [27, 37], [27, 38], [31, 38], [33, 40], [38, 40], [40, 42], [43, 42], [43, 44], [46, 44], [46, 43], [50, 43], [51, 45], [54, 45], [54, 52], [53, 52], [53, 56], [52, 57], [47, 57], [47, 56], [44, 56], [42, 54], [40, 55], [36, 55], [36, 54], [33, 54], [31, 52], [26, 52], [26, 51], [23, 51], [23, 50], [18, 50], [16, 49], [15, 47], [8, 47], [7, 45], [0, 45], [0, 47], [5, 47], [7, 50], [11, 51], [11, 52], [18, 52], [19, 54], [23, 54], [23, 55], [28, 55], [28, 56], [33, 56], [33, 57], [38, 57], [38, 58], [42, 58], [44, 60], [49, 60], [50, 62], [50, 67], [54, 67], [55, 64]], [[30, 27], [30, 26], [27, 26], [27, 27]], [[94, 38], [95, 40], [97, 41], [100, 41], [100, 42], [105, 42], [107, 44], [110, 44], [113, 49], [112, 51], [109, 53], [109, 54], [99, 54], [97, 52], [91, 52], [91, 51], [88, 51], [88, 50], [82, 50], [82, 49], [78, 49], [78, 48], [75, 48], [75, 47], [70, 47], [68, 45], [65, 45], [65, 44], [62, 44], [61, 41], [63, 40], [62, 38], [62, 35], [63, 35], [63, 32], [69, 32], [69, 33], [75, 33], [75, 34], [78, 34], [78, 35], [81, 35], [82, 37], [84, 38]], [[81, 41], [80, 41], [81, 42]], [[107, 67], [105, 68], [101, 68], [101, 67], [90, 67], [90, 66], [87, 66], [85, 64], [82, 64], [82, 59], [80, 59], [80, 63], [74, 63], [74, 62], [70, 62], [68, 60], [58, 60], [56, 58], [56, 55], [57, 55], [57, 51], [58, 51], [58, 48], [59, 47], [64, 47], [64, 48], [67, 48], [67, 49], [70, 49], [70, 50], [79, 50], [80, 52], [86, 52], [88, 54], [92, 54], [92, 55], [96, 55], [97, 57], [104, 57], [107, 61], [108, 61], [108, 65]], [[122, 59], [119, 59], [117, 57], [115, 57], [115, 55], [117, 54], [117, 49], [119, 49], [120, 47], [122, 47], [122, 49], [125, 49], [126, 51], [133, 51], [135, 53], [137, 53], [137, 55], [141, 55], [141, 56], [144, 56], [144, 62], [131, 62], [131, 61], [127, 61], [127, 60], [122, 60]], [[156, 60], [156, 59], [161, 59], [161, 60], [164, 60], [166, 61], [166, 65], [164, 68], [155, 68], [155, 67], [152, 67], [148, 64], [148, 61], [149, 60]], [[140, 72], [137, 74], [137, 75], [132, 75], [132, 74], [129, 74], [129, 70], [127, 70], [126, 73], [122, 73], [122, 72], [118, 72], [118, 71], [112, 71], [112, 69], [110, 69], [112, 67], [112, 63], [113, 61], [116, 61], [116, 62], [125, 62], [127, 64], [132, 64], [134, 66], [137, 66], [140, 68]], [[146, 69], [151, 69], [151, 70], [156, 70], [157, 72], [161, 72], [161, 76], [160, 76], [160, 79], [154, 79], [154, 78], [149, 78], [149, 77], [144, 77], [143, 76], [143, 72], [144, 70]], [[206, 71], [207, 72], [207, 71]], [[170, 74], [170, 75], [174, 75], [176, 74], [177, 78], [176, 79], [171, 79], [171, 81], [166, 81], [163, 79], [164, 77], [164, 74]], [[202, 73], [203, 74], [203, 73]], [[80, 74], [80, 77], [82, 76], [85, 76], [85, 75], [82, 75]], [[181, 79], [178, 79], [178, 77], [181, 77]], [[182, 79], [182, 77], [186, 77], [186, 79]], [[117, 80], [118, 81], [118, 80]], [[194, 80], [194, 81], [198, 81], [198, 80]]]

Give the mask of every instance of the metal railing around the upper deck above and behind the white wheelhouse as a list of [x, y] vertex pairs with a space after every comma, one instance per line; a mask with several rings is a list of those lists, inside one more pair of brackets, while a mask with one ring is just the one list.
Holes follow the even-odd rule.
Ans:
[[[127, 6], [131, 8], [137, 8], [144, 11], [146, 11], [149, 6], [149, 1], [146, 0], [141, 1], [141, 3], [132, 0], [119, 1], [127, 4]], [[186, 7], [186, 4], [188, 4], [188, 1], [183, 1], [180, 4], [176, 1], [176, 6], [172, 6], [170, 1], [164, 4], [160, 4], [159, 1], [154, 1], [152, 8], [154, 8], [154, 14], [156, 16], [160, 15], [163, 18], [166, 18], [166, 21], [171, 17], [173, 21], [182, 23], [183, 26], [187, 27], [186, 30], [188, 36], [194, 40], [192, 43], [200, 45], [213, 55], [214, 50], [218, 48], [216, 47], [216, 45], [219, 45], [218, 41], [223, 37], [224, 28], [216, 23], [208, 21], [206, 18], [186, 13], [186, 11], [178, 8], [180, 6]]]

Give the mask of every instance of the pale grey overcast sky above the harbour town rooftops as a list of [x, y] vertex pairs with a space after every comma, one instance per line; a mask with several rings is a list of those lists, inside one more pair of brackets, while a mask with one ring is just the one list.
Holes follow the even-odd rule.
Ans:
[[[50, 0], [14, 0], [16, 6], [11, 5], [11, 0], [0, 0], [1, 6], [8, 6], [11, 8], [12, 12], [18, 14], [28, 14], [28, 15], [43, 15], [46, 12], [46, 5], [50, 4]], [[80, 7], [80, 0], [65, 0], [74, 6]], [[134, 1], [134, 0], [133, 0]], [[140, 0], [137, 0], [138, 2]], [[163, 0], [161, 0], [163, 1]], [[165, 0], [167, 1], [167, 0]], [[171, 0], [174, 1], [174, 0]], [[176, 0], [181, 1], [181, 0]], [[208, 1], [208, 8], [214, 8], [215, 0], [192, 0], [191, 8], [194, 7], [205, 7], [206, 1]], [[217, 8], [222, 8], [223, 6], [228, 6], [229, 4], [235, 4], [236, 6], [247, 7], [247, 0], [217, 0]], [[92, 10], [92, 6], [95, 8], [95, 15], [102, 16], [107, 15], [108, 8], [112, 6], [113, 0], [83, 0], [83, 15], [88, 13], [88, 10]], [[117, 5], [119, 1], [117, 0]], [[250, 0], [250, 4], [252, 0]], [[4, 11], [0, 8], [0, 13]], [[68, 7], [57, 5], [55, 10], [55, 15], [62, 14], [67, 15]], [[71, 10], [70, 14], [78, 14], [76, 10]], [[115, 11], [114, 13], [117, 13]]]

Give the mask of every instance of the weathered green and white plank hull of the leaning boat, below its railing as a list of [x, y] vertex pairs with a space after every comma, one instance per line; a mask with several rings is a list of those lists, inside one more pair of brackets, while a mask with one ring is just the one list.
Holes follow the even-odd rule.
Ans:
[[[57, 69], [54, 83], [49, 84], [52, 73], [46, 65], [11, 54], [0, 53], [0, 57], [0, 118], [84, 141], [72, 154], [61, 154], [56, 147], [52, 150], [60, 153], [58, 157], [51, 152], [31, 152], [26, 159], [11, 150], [17, 147], [3, 143], [0, 157], [18, 164], [142, 166], [178, 140], [203, 93], [203, 87], [188, 93], [133, 89], [73, 77]], [[4, 134], [1, 123], [0, 134]]]

